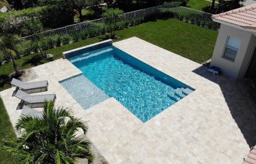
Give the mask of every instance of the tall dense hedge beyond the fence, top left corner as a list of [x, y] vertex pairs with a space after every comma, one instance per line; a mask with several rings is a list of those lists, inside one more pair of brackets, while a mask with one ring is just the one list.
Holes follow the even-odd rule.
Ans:
[[67, 26], [74, 21], [74, 13], [69, 10], [59, 9], [56, 5], [48, 5], [5, 13], [0, 12], [0, 31], [27, 36], [42, 31], [43, 26], [51, 28]]

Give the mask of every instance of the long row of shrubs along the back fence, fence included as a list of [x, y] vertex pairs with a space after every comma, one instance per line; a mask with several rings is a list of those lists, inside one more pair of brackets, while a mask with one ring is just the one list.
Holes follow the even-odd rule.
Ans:
[[[219, 23], [214, 23], [213, 20], [211, 20], [211, 14], [189, 9], [187, 7], [167, 7], [163, 5], [140, 9], [135, 12], [127, 12], [124, 15], [121, 15], [116, 21], [116, 29], [129, 28], [130, 26], [136, 26], [140, 23], [147, 22], [148, 20], [165, 17], [175, 17], [179, 20], [204, 28], [219, 28]], [[79, 40], [106, 34], [109, 32], [108, 21], [108, 18], [102, 18], [25, 36], [23, 37], [24, 42], [22, 42], [18, 48], [18, 58], [38, 52], [38, 46], [42, 50], [49, 50], [63, 44], [78, 42]], [[0, 62], [3, 60], [6, 59], [0, 59]]]

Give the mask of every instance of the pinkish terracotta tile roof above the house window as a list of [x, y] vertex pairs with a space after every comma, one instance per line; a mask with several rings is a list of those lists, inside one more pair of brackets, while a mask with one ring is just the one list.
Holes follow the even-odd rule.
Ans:
[[228, 12], [212, 15], [211, 17], [214, 20], [222, 20], [243, 28], [256, 30], [256, 3], [246, 7], [233, 9]]

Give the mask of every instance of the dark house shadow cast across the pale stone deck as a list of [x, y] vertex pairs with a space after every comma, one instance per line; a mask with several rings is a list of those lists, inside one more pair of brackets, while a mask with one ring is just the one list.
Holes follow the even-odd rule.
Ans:
[[249, 94], [246, 81], [234, 81], [227, 77], [215, 76], [207, 71], [206, 66], [200, 66], [193, 72], [219, 85], [233, 120], [249, 147], [254, 147], [256, 144], [256, 103]]

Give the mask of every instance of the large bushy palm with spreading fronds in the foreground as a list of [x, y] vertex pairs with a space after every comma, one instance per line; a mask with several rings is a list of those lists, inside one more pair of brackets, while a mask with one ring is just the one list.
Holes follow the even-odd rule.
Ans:
[[92, 163], [91, 142], [75, 136], [79, 128], [86, 133], [88, 125], [72, 116], [68, 109], [55, 109], [45, 102], [42, 118], [22, 116], [15, 126], [18, 138], [4, 141], [4, 148], [23, 164], [75, 163], [86, 158]]

